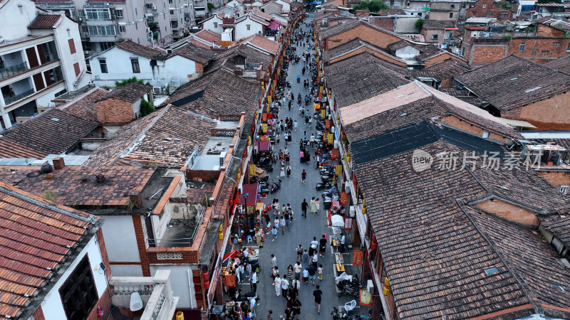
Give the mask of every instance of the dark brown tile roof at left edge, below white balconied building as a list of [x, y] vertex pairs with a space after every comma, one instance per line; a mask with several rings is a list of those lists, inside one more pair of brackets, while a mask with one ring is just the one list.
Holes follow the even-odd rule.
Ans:
[[[61, 154], [98, 125], [61, 110], [49, 110], [2, 132], [0, 157], [43, 158], [48, 154]], [[14, 145], [22, 149], [14, 150]]]

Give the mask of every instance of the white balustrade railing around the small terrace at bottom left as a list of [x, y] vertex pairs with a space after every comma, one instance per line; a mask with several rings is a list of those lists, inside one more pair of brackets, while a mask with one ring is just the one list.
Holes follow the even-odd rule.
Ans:
[[154, 277], [111, 277], [113, 304], [130, 308], [131, 294], [138, 292], [145, 306], [141, 320], [172, 319], [178, 297], [172, 297], [170, 270], [159, 270]]

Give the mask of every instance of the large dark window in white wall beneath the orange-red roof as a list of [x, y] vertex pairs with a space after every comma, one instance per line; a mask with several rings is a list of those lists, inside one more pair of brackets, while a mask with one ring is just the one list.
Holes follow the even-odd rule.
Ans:
[[87, 255], [60, 287], [59, 294], [67, 319], [87, 318], [98, 299]]

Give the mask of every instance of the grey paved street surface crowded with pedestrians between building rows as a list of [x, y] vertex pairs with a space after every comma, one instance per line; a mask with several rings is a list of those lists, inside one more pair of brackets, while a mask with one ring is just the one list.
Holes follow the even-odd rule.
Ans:
[[[312, 21], [314, 14], [309, 14], [309, 18], [305, 21]], [[305, 22], [301, 23], [301, 30], [311, 31], [309, 27], [305, 26]], [[313, 42], [311, 41], [311, 44]], [[307, 48], [302, 45], [297, 48], [297, 53], [301, 54]], [[311, 55], [314, 54], [314, 50], [311, 51]], [[303, 80], [310, 80], [310, 73], [306, 71], [305, 75], [301, 75], [301, 69], [303, 68], [302, 60], [298, 64], [289, 63], [288, 80], [291, 82], [291, 92], [294, 92], [295, 97], [301, 92], [301, 96], [309, 94], [309, 89], [303, 87]], [[296, 82], [296, 76], [301, 75], [301, 82]], [[303, 102], [304, 103], [304, 102]], [[314, 129], [314, 123], [312, 128], [306, 127], [304, 120], [301, 120], [299, 115], [298, 106], [296, 101], [294, 101], [291, 111], [288, 110], [287, 105], [281, 107], [279, 112], [279, 119], [285, 119], [286, 117], [293, 117], [299, 122], [297, 132], [293, 133], [293, 138], [291, 144], [286, 147], [291, 153], [291, 177], [283, 178], [281, 183], [281, 190], [276, 193], [271, 193], [264, 198], [264, 203], [268, 205], [271, 203], [273, 198], [278, 198], [280, 205], [291, 203], [291, 207], [294, 210], [294, 221], [291, 225], [291, 231], [285, 230], [285, 234], [281, 234], [279, 230], [279, 235], [277, 239], [271, 241], [271, 234], [266, 235], [266, 241], [264, 247], [261, 248], [259, 254], [259, 260], [261, 262], [261, 272], [259, 274], [259, 284], [257, 286], [257, 291], [259, 297], [261, 298], [260, 305], [257, 306], [257, 319], [265, 319], [269, 309], [273, 310], [274, 319], [279, 319], [279, 315], [284, 314], [286, 309], [285, 299], [282, 296], [276, 297], [275, 287], [272, 285], [271, 280], [271, 266], [269, 265], [269, 257], [271, 254], [276, 255], [277, 265], [279, 267], [279, 274], [281, 276], [286, 274], [286, 268], [289, 265], [294, 265], [296, 262], [296, 247], [298, 245], [303, 245], [305, 249], [309, 249], [309, 242], [316, 237], [317, 240], [321, 238], [323, 233], [332, 235], [333, 230], [329, 228], [326, 223], [326, 210], [323, 210], [323, 198], [321, 197], [322, 191], [316, 191], [316, 183], [320, 182], [320, 175], [318, 170], [315, 169], [314, 161], [314, 148], [309, 147], [311, 152], [311, 163], [301, 164], [299, 161], [299, 139], [302, 139], [304, 131], [307, 132], [308, 136], [311, 137], [311, 133], [316, 133]], [[314, 105], [309, 104], [310, 114], [314, 114]], [[274, 147], [274, 152], [278, 153], [279, 149], [285, 148], [285, 142], [283, 134], [281, 134], [280, 144], [276, 144]], [[329, 161], [332, 162], [332, 161]], [[305, 169], [307, 171], [306, 184], [301, 183], [301, 171]], [[269, 181], [277, 181], [279, 176], [279, 163], [274, 165], [274, 171], [269, 178]], [[301, 202], [305, 198], [307, 203], [310, 203], [311, 197], [318, 197], [321, 201], [321, 211], [317, 215], [307, 213], [307, 218], [301, 217]], [[348, 213], [348, 210], [346, 210]], [[271, 218], [274, 215], [271, 213]], [[330, 247], [330, 238], [327, 244], [327, 251], [325, 257], [319, 257], [318, 263], [323, 264], [323, 280], [322, 282], [316, 279], [316, 284], [321, 285], [321, 290], [323, 291], [322, 304], [321, 304], [321, 314], [317, 314], [314, 302], [313, 302], [313, 291], [314, 285], [310, 282], [304, 284], [301, 282], [301, 289], [299, 290], [299, 300], [303, 306], [301, 307], [301, 317], [300, 319], [331, 319], [331, 311], [333, 306], [341, 306], [345, 302], [349, 302], [356, 297], [345, 296], [338, 298], [336, 291], [336, 286], [334, 284], [335, 273], [334, 270], [334, 257]], [[349, 243], [347, 237], [347, 245]], [[346, 253], [344, 255], [344, 261], [346, 264], [352, 262], [352, 255]], [[302, 264], [306, 267], [306, 263]], [[358, 272], [357, 267], [346, 266], [346, 271], [349, 274], [354, 274]], [[244, 292], [249, 292], [249, 282], [244, 282], [242, 288]], [[365, 314], [364, 311], [359, 312]]]

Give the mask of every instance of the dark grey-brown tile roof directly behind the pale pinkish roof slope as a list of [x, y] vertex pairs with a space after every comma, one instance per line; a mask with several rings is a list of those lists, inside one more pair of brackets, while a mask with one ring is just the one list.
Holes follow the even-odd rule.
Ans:
[[353, 105], [411, 81], [405, 79], [405, 68], [386, 63], [368, 52], [325, 65], [325, 73], [339, 107]]

